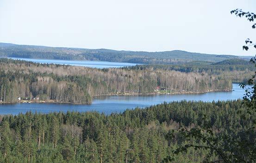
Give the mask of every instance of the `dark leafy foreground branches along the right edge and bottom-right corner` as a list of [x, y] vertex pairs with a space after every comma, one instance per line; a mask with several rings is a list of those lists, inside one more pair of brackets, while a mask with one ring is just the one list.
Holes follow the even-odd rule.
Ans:
[[[232, 10], [231, 14], [235, 14], [237, 17], [246, 17], [248, 21], [253, 22], [256, 19], [256, 14], [252, 12], [243, 12], [241, 9]], [[256, 23], [252, 25], [252, 28], [256, 28]], [[256, 48], [256, 43], [246, 39], [246, 45], [243, 46], [243, 50], [248, 51], [249, 47]], [[256, 57], [251, 58], [250, 62], [256, 66]], [[240, 87], [246, 88], [244, 94], [244, 104], [248, 107], [246, 111], [238, 111], [241, 121], [246, 121], [245, 116], [252, 114], [256, 111], [256, 71], [249, 81], [249, 85], [253, 85], [251, 88], [247, 88], [246, 84], [240, 84]], [[181, 152], [187, 152], [188, 148], [194, 148], [194, 150], [202, 149], [208, 150], [208, 154], [205, 157], [205, 162], [224, 162], [224, 163], [251, 163], [256, 162], [256, 121], [251, 122], [249, 128], [242, 128], [236, 131], [228, 132], [214, 132], [214, 129], [210, 125], [203, 127], [196, 127], [187, 130], [185, 127], [178, 131], [171, 131], [167, 134], [169, 139], [174, 138], [177, 134], [182, 135], [188, 143], [179, 146], [172, 151], [173, 155], [166, 157], [162, 162], [174, 161], [174, 155]], [[197, 140], [196, 142], [191, 141]], [[212, 156], [217, 156], [212, 158]]]

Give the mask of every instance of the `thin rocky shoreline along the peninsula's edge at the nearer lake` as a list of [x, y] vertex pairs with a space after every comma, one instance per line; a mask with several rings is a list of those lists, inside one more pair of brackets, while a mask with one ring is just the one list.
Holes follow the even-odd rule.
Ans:
[[[232, 89], [224, 89], [224, 90], [208, 90], [208, 91], [202, 91], [202, 92], [173, 92], [173, 93], [161, 93], [161, 92], [154, 92], [154, 93], [110, 93], [110, 94], [99, 94], [99, 95], [93, 95], [92, 99], [100, 97], [100, 96], [138, 96], [138, 95], [174, 95], [174, 94], [200, 94], [200, 93], [209, 93], [209, 92], [231, 92]], [[63, 102], [63, 101], [56, 101], [56, 100], [20, 100], [19, 102], [0, 102], [1, 104], [22, 104], [22, 103], [37, 103], [37, 104], [72, 104], [72, 105], [91, 105], [89, 104], [81, 104], [81, 103], [72, 103], [72, 102]]]

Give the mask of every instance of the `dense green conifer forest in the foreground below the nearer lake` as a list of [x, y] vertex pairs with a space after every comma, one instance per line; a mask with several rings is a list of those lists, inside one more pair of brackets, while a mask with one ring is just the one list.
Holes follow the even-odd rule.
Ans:
[[[175, 162], [204, 162], [208, 150], [173, 150], [187, 143], [203, 141], [182, 135], [169, 139], [173, 129], [209, 124], [216, 134], [228, 134], [255, 141], [255, 135], [241, 137], [256, 115], [241, 118], [242, 101], [173, 102], [137, 108], [109, 116], [97, 112], [38, 114], [27, 112], [0, 118], [0, 162], [55, 163], [155, 163], [167, 156]], [[244, 157], [246, 157], [244, 155]], [[208, 161], [218, 161], [212, 155]]]

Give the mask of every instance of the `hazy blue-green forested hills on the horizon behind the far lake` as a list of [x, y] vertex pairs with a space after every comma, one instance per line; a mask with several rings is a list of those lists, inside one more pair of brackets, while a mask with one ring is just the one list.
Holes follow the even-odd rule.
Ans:
[[44, 58], [65, 60], [100, 60], [140, 64], [180, 64], [191, 61], [220, 62], [233, 55], [203, 54], [180, 50], [166, 52], [134, 52], [109, 49], [44, 47], [0, 43], [0, 57]]

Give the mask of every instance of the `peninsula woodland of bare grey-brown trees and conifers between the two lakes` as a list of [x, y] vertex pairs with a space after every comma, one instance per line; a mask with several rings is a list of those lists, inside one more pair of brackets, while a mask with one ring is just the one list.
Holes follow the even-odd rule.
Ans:
[[[157, 88], [159, 87], [159, 88]], [[93, 69], [58, 64], [35, 64], [0, 59], [0, 100], [21, 99], [89, 104], [94, 95], [200, 93], [231, 90], [231, 80], [207, 73], [175, 70]]]

